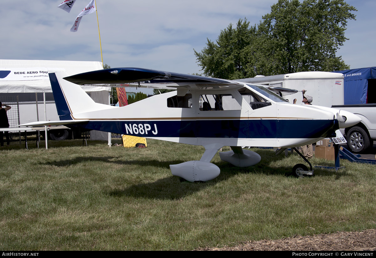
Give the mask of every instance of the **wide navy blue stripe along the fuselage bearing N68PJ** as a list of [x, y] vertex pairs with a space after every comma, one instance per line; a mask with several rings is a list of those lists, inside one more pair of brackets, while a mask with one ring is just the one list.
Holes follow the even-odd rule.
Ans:
[[[73, 125], [72, 125], [73, 126]], [[74, 126], [138, 137], [319, 138], [338, 129], [337, 120], [89, 121]]]

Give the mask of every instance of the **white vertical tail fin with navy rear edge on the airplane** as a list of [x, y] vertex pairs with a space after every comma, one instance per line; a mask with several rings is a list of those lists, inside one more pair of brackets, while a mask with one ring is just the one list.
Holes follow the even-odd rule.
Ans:
[[98, 111], [112, 106], [94, 102], [78, 85], [64, 80], [67, 73], [49, 73], [53, 97], [60, 120], [74, 120], [74, 114]]

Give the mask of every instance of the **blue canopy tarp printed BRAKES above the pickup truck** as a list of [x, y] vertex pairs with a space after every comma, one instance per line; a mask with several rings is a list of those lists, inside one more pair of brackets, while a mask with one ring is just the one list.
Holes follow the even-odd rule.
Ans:
[[344, 75], [344, 104], [367, 103], [368, 79], [376, 78], [376, 67], [335, 71]]

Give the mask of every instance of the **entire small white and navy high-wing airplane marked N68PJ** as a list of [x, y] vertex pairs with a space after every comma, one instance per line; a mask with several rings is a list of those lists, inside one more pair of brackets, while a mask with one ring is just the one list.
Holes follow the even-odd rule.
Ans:
[[[220, 174], [220, 168], [210, 161], [223, 146], [230, 146], [232, 150], [220, 152], [221, 160], [237, 167], [249, 167], [257, 164], [261, 157], [241, 146], [279, 147], [278, 153], [281, 153], [288, 147], [331, 137], [337, 129], [360, 121], [358, 116], [343, 110], [294, 105], [262, 85], [239, 81], [141, 68], [110, 68], [67, 75], [64, 72], [49, 74], [60, 121], [20, 126], [65, 124], [202, 145], [205, 153], [199, 161], [170, 165], [173, 175], [190, 182], [209, 181]], [[74, 83], [138, 83], [151, 88], [176, 88], [177, 91], [113, 107], [95, 103]], [[295, 166], [294, 169], [296, 175], [313, 173], [309, 174], [306, 166]]]

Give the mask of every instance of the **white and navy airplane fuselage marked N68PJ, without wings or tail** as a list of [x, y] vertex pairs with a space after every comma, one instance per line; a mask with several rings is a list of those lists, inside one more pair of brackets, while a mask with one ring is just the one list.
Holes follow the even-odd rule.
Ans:
[[[218, 141], [225, 146], [299, 146], [330, 136], [338, 129], [333, 112], [310, 105], [267, 100], [254, 104], [258, 107], [252, 109], [249, 96], [244, 97], [238, 90], [195, 90], [187, 95], [190, 106], [169, 104], [171, 99], [179, 98], [171, 92], [120, 108], [72, 116], [90, 120], [80, 125], [86, 129], [203, 146]], [[213, 96], [222, 96], [222, 100], [226, 97], [229, 103], [223, 100], [218, 105], [227, 107], [215, 109]], [[184, 101], [183, 96], [180, 99]], [[212, 104], [209, 110], [202, 107], [203, 99]]]

